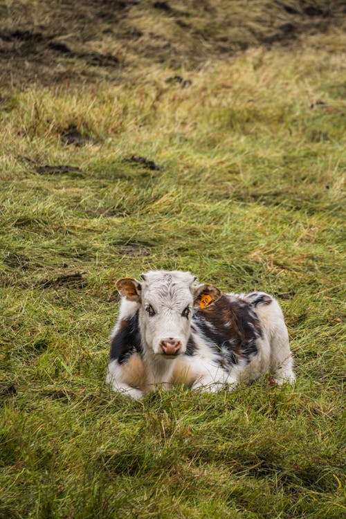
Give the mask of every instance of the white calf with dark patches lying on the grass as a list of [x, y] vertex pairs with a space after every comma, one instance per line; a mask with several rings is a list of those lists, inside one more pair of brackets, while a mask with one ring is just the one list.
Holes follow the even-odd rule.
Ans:
[[222, 293], [189, 272], [150, 271], [118, 280], [107, 382], [135, 399], [157, 385], [214, 392], [273, 372], [293, 382], [284, 317], [263, 292]]

